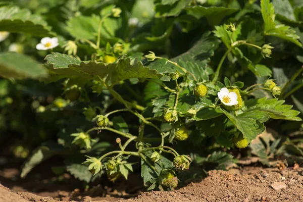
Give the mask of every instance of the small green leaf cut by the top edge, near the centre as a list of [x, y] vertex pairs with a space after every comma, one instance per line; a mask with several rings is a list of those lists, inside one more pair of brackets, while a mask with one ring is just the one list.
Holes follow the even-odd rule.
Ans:
[[190, 3], [191, 0], [179, 0], [172, 5], [156, 4], [156, 18], [178, 16], [181, 11]]

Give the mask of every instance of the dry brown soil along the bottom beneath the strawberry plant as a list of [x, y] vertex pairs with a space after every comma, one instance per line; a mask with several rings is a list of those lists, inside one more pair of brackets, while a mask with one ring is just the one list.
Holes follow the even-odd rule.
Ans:
[[[280, 188], [276, 190], [280, 186]], [[39, 186], [39, 185], [37, 185]], [[274, 188], [276, 187], [276, 189]], [[20, 187], [19, 187], [20, 188]], [[13, 190], [16, 187], [12, 188]], [[94, 189], [98, 189], [95, 187]], [[17, 190], [16, 190], [17, 191]], [[116, 195], [113, 194], [116, 191]], [[231, 169], [229, 171], [213, 170], [209, 172], [209, 176], [198, 181], [191, 182], [185, 187], [174, 191], [150, 191], [142, 193], [135, 198], [122, 199], [123, 194], [117, 190], [112, 190], [105, 197], [90, 197], [89, 192], [85, 194], [76, 194], [74, 191], [57, 190], [55, 198], [61, 201], [303, 201], [303, 169], [296, 170], [285, 168], [260, 168], [245, 167], [243, 169]], [[0, 201], [2, 202], [26, 202], [26, 201], [59, 201], [45, 195], [54, 195], [54, 193], [33, 193], [17, 191], [13, 192], [8, 188], [0, 185]], [[58, 195], [61, 196], [58, 198]], [[115, 196], [115, 197], [114, 197]], [[120, 198], [119, 198], [120, 196]], [[131, 195], [128, 195], [131, 196]], [[54, 197], [54, 196], [53, 196]]]

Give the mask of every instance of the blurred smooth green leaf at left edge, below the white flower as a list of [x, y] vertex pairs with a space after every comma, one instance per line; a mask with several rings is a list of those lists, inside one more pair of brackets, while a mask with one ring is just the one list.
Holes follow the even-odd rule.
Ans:
[[47, 70], [28, 56], [13, 52], [1, 53], [0, 76], [15, 79], [38, 79], [46, 77]]

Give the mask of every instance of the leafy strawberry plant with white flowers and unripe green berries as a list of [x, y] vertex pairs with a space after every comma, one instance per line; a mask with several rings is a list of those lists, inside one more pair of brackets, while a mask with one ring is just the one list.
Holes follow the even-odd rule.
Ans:
[[63, 156], [86, 182], [140, 169], [148, 190], [170, 189], [192, 162], [235, 163], [226, 151], [270, 120], [301, 124], [298, 1], [30, 2], [0, 4], [0, 75], [61, 93], [33, 107], [57, 136], [22, 177]]

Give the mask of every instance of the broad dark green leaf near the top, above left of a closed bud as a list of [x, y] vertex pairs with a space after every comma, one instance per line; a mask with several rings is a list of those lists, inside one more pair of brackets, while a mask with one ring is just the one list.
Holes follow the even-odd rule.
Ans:
[[185, 10], [187, 14], [196, 18], [206, 17], [212, 26], [219, 25], [223, 18], [238, 11], [238, 9], [234, 8], [202, 6], [190, 7], [186, 8]]

